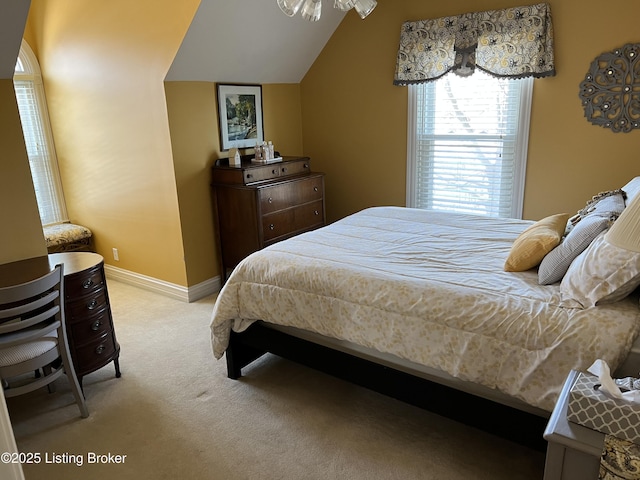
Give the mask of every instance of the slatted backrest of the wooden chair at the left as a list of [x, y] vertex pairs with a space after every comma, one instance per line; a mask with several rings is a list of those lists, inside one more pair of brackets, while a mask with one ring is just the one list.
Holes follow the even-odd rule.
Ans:
[[40, 278], [0, 288], [0, 335], [45, 321], [60, 322], [64, 328], [63, 270], [57, 265]]

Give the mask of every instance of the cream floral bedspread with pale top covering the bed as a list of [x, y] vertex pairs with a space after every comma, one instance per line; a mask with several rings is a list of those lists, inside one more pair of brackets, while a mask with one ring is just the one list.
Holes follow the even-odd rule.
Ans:
[[220, 292], [220, 358], [255, 320], [357, 343], [547, 411], [571, 369], [612, 371], [638, 334], [637, 298], [561, 305], [535, 270], [503, 271], [532, 222], [375, 207], [254, 253]]

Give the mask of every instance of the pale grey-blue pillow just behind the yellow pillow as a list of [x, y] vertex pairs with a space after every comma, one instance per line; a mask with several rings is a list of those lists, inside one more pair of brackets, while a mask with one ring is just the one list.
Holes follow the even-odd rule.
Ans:
[[595, 202], [589, 202], [587, 207], [580, 211], [584, 211], [583, 214], [578, 212], [580, 216], [578, 223], [569, 231], [560, 245], [542, 259], [538, 269], [538, 282], [541, 285], [549, 285], [562, 280], [571, 262], [591, 244], [594, 238], [613, 224], [624, 208], [622, 191], [600, 197]]

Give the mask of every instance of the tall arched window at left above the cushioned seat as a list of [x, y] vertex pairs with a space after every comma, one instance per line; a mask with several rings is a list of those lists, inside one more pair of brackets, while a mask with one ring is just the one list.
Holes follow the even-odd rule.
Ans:
[[23, 40], [13, 84], [43, 225], [68, 220], [40, 66]]

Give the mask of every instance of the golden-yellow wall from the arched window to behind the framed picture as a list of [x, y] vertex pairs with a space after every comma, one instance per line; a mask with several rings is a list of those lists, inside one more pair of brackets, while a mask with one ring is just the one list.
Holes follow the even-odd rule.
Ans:
[[[197, 3], [35, 0], [25, 35], [71, 220], [106, 263], [186, 286], [219, 275], [210, 168], [226, 156], [215, 84], [163, 83]], [[263, 107], [266, 137], [302, 154], [300, 85], [263, 85]]]

